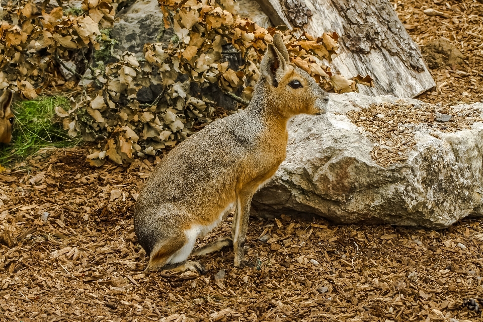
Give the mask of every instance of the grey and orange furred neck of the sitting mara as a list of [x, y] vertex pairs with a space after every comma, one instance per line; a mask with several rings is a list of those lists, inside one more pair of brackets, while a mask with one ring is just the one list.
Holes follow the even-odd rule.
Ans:
[[245, 111], [261, 119], [265, 126], [285, 132], [290, 117], [280, 113], [281, 107], [275, 106], [273, 100], [267, 96], [267, 86], [267, 81], [261, 78]]

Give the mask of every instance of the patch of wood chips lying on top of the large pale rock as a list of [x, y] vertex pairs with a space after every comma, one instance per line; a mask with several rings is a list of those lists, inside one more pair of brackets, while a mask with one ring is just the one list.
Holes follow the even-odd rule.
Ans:
[[[441, 115], [450, 119], [443, 121]], [[408, 104], [404, 100], [395, 105], [373, 104], [368, 109], [350, 111], [347, 117], [362, 130], [370, 132], [368, 138], [375, 143], [372, 159], [382, 167], [408, 159], [416, 144], [416, 129], [421, 130], [421, 126], [439, 139], [442, 133], [456, 132], [470, 128], [474, 122], [483, 122], [481, 111], [468, 105]]]

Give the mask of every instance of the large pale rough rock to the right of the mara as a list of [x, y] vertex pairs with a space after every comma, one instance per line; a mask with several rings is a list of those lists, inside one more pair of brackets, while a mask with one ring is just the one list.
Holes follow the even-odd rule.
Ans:
[[[483, 215], [483, 103], [446, 108], [453, 117], [444, 123], [431, 116], [441, 108], [391, 96], [332, 95], [326, 115], [291, 121], [287, 157], [254, 196], [253, 210], [431, 228]], [[423, 121], [401, 124], [398, 115]], [[392, 164], [380, 166], [381, 157]]]

